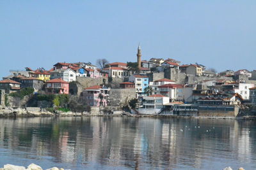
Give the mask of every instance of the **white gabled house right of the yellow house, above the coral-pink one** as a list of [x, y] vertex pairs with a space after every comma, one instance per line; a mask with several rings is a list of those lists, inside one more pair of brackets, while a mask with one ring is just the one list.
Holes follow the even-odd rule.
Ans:
[[68, 69], [56, 69], [51, 71], [51, 79], [62, 78], [64, 81], [76, 81], [76, 72], [70, 68]]

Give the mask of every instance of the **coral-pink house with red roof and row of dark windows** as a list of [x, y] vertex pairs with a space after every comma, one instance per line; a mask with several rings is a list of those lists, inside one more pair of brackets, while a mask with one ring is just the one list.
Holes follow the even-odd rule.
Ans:
[[69, 84], [61, 78], [54, 78], [46, 82], [46, 94], [68, 94]]

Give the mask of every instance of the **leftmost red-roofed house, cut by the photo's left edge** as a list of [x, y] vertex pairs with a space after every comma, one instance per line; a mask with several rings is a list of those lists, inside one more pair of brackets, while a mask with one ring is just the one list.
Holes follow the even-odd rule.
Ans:
[[1, 80], [0, 81], [0, 89], [5, 90], [6, 94], [10, 94], [12, 92], [17, 92], [20, 90], [20, 83], [17, 81], [13, 81], [10, 79]]

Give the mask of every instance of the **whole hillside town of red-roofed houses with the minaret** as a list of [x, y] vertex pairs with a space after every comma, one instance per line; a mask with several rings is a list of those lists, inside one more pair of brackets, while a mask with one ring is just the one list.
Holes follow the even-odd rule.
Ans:
[[[255, 114], [256, 70], [227, 69], [217, 73], [197, 62], [183, 64], [158, 57], [143, 60], [140, 46], [134, 57], [137, 62], [109, 63], [107, 59], [99, 59], [95, 66], [89, 61], [62, 61], [49, 70], [44, 66], [10, 70], [10, 75], [0, 81], [0, 104], [54, 108], [54, 103], [31, 104], [29, 100], [40, 95], [65, 94], [84, 106], [107, 108], [107, 113], [114, 107], [141, 115], [237, 117]], [[33, 94], [27, 101], [15, 103], [8, 99], [28, 88], [33, 89]], [[68, 104], [61, 107], [68, 108]]]

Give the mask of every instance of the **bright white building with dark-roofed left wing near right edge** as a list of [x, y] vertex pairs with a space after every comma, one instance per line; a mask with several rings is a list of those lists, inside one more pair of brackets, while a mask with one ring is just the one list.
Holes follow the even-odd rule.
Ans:
[[240, 94], [243, 99], [250, 99], [250, 89], [255, 85], [251, 83], [228, 83], [222, 85], [223, 93], [225, 94]]

